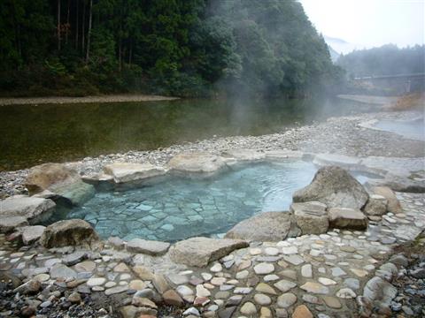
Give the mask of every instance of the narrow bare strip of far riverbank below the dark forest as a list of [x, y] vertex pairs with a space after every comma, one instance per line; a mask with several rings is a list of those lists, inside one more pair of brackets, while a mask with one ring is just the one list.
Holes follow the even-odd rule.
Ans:
[[159, 102], [174, 101], [178, 97], [167, 97], [160, 95], [103, 95], [84, 97], [22, 97], [22, 98], [0, 98], [0, 106], [5, 105], [29, 105], [50, 103], [89, 103], [89, 102]]

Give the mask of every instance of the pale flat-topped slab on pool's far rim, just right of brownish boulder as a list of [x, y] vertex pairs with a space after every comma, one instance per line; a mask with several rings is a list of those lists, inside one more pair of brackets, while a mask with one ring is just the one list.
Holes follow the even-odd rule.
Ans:
[[116, 183], [126, 183], [157, 177], [166, 170], [151, 163], [112, 163], [104, 166], [104, 173], [112, 176]]

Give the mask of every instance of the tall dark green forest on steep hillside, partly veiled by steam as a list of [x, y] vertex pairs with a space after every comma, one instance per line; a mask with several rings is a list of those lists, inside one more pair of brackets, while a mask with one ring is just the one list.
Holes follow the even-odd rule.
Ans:
[[1, 95], [307, 95], [342, 71], [295, 0], [2, 0]]

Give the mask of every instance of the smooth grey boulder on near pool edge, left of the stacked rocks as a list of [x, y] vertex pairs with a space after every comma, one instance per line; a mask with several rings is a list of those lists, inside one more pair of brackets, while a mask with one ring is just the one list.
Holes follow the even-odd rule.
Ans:
[[275, 242], [297, 236], [292, 235], [294, 227], [295, 222], [289, 212], [264, 212], [237, 223], [226, 233], [226, 238]]

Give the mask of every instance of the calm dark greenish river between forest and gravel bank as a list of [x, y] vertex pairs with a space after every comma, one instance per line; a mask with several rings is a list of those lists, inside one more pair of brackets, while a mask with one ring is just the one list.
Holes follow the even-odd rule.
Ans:
[[0, 107], [0, 170], [214, 136], [279, 133], [364, 110], [338, 99], [8, 105]]

